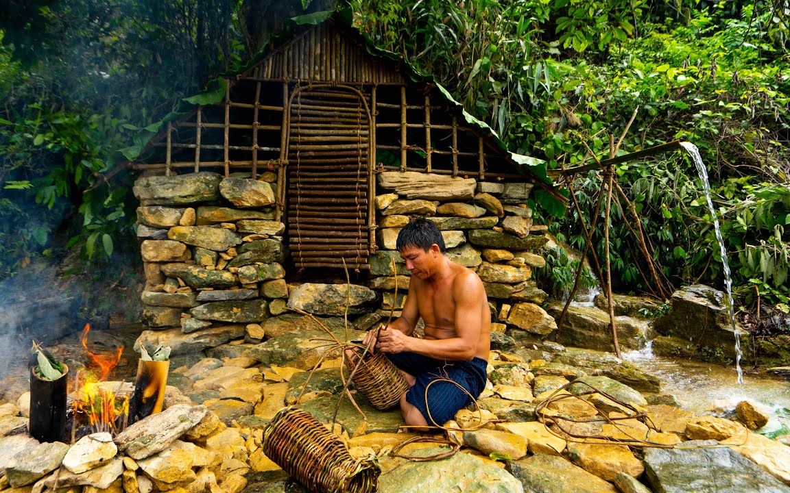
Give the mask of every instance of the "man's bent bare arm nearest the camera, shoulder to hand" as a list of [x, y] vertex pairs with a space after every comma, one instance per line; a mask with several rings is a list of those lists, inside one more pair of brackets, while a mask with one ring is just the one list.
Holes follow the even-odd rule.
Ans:
[[[483, 314], [485, 290], [475, 274], [467, 272], [453, 282], [456, 337], [447, 339], [418, 339], [405, 334], [380, 334], [378, 348], [385, 353], [408, 351], [437, 360], [472, 360], [480, 341], [480, 320]], [[405, 313], [405, 312], [404, 312]]]

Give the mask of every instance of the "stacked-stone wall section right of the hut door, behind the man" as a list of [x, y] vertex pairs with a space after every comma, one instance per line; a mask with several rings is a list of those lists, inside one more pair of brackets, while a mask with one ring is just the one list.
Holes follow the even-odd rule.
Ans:
[[371, 258], [368, 286], [382, 291], [383, 311], [403, 308], [408, 289], [408, 271], [395, 245], [397, 234], [412, 217], [425, 216], [442, 231], [450, 259], [482, 279], [494, 331], [529, 339], [556, 329], [554, 319], [539, 306], [547, 294], [532, 279], [532, 269], [545, 265], [537, 252], [547, 239], [546, 226], [532, 223], [526, 204], [531, 183], [393, 171], [378, 175], [378, 188], [381, 249]]

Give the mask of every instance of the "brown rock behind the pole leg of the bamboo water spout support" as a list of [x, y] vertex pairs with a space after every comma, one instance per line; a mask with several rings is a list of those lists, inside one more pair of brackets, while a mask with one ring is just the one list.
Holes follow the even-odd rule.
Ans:
[[[548, 312], [559, 316], [562, 304], [551, 304]], [[622, 349], [639, 349], [653, 334], [649, 323], [626, 316], [615, 316], [617, 339]], [[570, 306], [558, 342], [585, 349], [610, 350], [609, 314], [594, 307]]]

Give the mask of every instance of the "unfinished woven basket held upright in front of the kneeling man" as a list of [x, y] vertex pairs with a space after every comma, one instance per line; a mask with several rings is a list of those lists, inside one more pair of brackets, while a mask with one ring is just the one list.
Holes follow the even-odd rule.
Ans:
[[408, 383], [397, 366], [383, 353], [367, 353], [359, 363], [360, 349], [348, 352], [348, 364], [353, 370], [358, 364], [352, 382], [374, 408], [383, 411], [398, 404], [408, 390]]

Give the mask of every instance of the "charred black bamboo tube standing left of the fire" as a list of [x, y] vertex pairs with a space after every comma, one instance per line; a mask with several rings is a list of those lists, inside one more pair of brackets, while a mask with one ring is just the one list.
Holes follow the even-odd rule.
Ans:
[[57, 380], [40, 379], [30, 368], [30, 422], [28, 431], [39, 442], [61, 442], [66, 433], [66, 387], [69, 368]]

